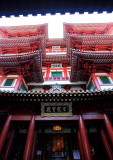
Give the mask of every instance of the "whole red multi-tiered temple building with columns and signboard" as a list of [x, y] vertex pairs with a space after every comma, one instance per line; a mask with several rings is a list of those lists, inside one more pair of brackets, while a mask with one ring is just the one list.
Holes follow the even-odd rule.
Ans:
[[0, 19], [0, 160], [113, 160], [113, 23], [64, 21], [51, 38], [47, 20], [10, 20]]

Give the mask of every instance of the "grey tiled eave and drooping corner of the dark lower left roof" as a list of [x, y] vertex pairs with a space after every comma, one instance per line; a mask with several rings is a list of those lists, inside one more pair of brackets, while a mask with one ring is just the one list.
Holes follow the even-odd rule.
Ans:
[[[35, 70], [34, 67], [35, 66]], [[34, 51], [24, 54], [13, 54], [13, 55], [0, 55], [0, 67], [8, 69], [11, 68], [27, 68], [31, 74], [33, 82], [43, 82], [42, 75], [42, 61], [41, 61], [41, 51]], [[26, 74], [26, 73], [25, 73]]]

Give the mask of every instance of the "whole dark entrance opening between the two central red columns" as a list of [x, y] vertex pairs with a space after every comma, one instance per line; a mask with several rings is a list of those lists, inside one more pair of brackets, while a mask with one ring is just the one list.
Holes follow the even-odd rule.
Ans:
[[[61, 130], [52, 126], [41, 126], [38, 133], [36, 160], [70, 160], [73, 157], [76, 140], [72, 142], [71, 126], [62, 125]], [[73, 146], [74, 145], [74, 146]]]

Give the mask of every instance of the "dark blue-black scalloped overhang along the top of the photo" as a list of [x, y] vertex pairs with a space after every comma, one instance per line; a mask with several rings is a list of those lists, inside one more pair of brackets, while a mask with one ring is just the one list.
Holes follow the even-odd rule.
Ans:
[[1, 0], [0, 16], [113, 10], [112, 0]]

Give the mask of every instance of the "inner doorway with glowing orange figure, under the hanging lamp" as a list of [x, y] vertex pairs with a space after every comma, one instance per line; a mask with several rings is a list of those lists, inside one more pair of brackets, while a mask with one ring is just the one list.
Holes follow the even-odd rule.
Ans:
[[48, 135], [46, 152], [49, 160], [69, 159], [69, 136], [67, 137], [63, 134]]

